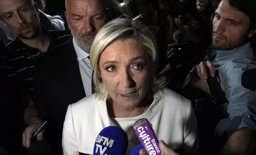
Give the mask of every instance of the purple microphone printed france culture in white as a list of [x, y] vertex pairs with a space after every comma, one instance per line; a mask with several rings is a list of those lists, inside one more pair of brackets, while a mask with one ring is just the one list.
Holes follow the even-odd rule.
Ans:
[[148, 155], [162, 155], [159, 142], [147, 119], [138, 119], [133, 128]]

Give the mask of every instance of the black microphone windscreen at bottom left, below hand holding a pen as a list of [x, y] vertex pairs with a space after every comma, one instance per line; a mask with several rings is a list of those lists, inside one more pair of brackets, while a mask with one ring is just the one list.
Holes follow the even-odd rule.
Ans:
[[51, 155], [50, 145], [43, 140], [37, 140], [33, 142], [28, 150], [28, 155]]

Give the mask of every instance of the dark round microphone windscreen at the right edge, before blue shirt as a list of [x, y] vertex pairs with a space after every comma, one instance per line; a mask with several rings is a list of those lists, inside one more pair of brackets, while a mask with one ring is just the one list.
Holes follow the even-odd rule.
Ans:
[[256, 91], [256, 68], [244, 71], [241, 84], [246, 89]]

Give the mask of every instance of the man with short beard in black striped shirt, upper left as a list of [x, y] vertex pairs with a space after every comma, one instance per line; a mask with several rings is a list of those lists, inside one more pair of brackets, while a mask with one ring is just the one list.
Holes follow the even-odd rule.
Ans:
[[34, 98], [35, 60], [52, 47], [66, 42], [71, 35], [65, 31], [42, 29], [33, 0], [1, 0], [0, 17], [17, 36], [6, 45], [7, 51], [1, 53], [1, 59], [5, 59], [1, 61], [5, 67], [1, 68], [5, 68], [6, 77], [19, 79]]

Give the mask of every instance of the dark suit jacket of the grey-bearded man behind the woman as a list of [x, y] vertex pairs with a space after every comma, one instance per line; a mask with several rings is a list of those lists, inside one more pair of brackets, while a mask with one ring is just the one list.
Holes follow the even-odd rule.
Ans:
[[55, 146], [58, 155], [68, 105], [86, 96], [72, 38], [41, 55], [35, 66], [36, 106], [39, 115], [48, 121], [45, 140]]

